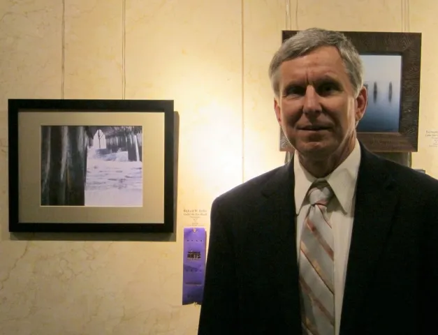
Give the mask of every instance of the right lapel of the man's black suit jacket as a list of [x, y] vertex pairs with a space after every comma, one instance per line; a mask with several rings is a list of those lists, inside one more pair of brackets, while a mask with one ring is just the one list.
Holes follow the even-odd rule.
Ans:
[[384, 161], [362, 145], [361, 152], [340, 334], [354, 334], [367, 283], [379, 262], [398, 201], [396, 185]]

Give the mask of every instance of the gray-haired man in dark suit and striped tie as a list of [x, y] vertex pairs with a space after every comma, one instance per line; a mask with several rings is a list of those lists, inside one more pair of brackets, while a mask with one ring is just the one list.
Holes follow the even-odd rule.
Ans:
[[295, 154], [214, 200], [198, 334], [438, 334], [438, 181], [356, 139], [357, 50], [300, 31], [270, 78]]

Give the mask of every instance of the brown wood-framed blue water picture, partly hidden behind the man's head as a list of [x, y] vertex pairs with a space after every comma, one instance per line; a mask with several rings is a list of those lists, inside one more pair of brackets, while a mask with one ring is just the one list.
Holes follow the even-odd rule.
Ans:
[[[282, 43], [298, 31], [282, 31]], [[374, 152], [418, 151], [421, 33], [342, 31], [363, 61], [367, 108], [356, 130]], [[279, 150], [293, 147], [279, 128]]]

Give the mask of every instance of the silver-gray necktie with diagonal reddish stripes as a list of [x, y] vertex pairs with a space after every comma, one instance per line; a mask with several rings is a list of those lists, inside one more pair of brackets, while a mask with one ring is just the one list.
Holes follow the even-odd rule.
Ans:
[[307, 193], [310, 207], [300, 241], [302, 328], [309, 335], [335, 334], [333, 233], [327, 204], [333, 191], [319, 181]]

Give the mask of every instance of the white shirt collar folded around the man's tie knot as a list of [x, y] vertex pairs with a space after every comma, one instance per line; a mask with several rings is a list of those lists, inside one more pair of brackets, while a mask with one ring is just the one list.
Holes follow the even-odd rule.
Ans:
[[[298, 155], [293, 155], [293, 170], [295, 174], [295, 211], [300, 212], [302, 205], [305, 203], [305, 196], [309, 187], [316, 180], [305, 168], [302, 167], [298, 160]], [[360, 165], [360, 145], [356, 140], [351, 154], [327, 177], [330, 187], [335, 193], [335, 197], [345, 213], [351, 212], [354, 193], [356, 191], [356, 180]]]

